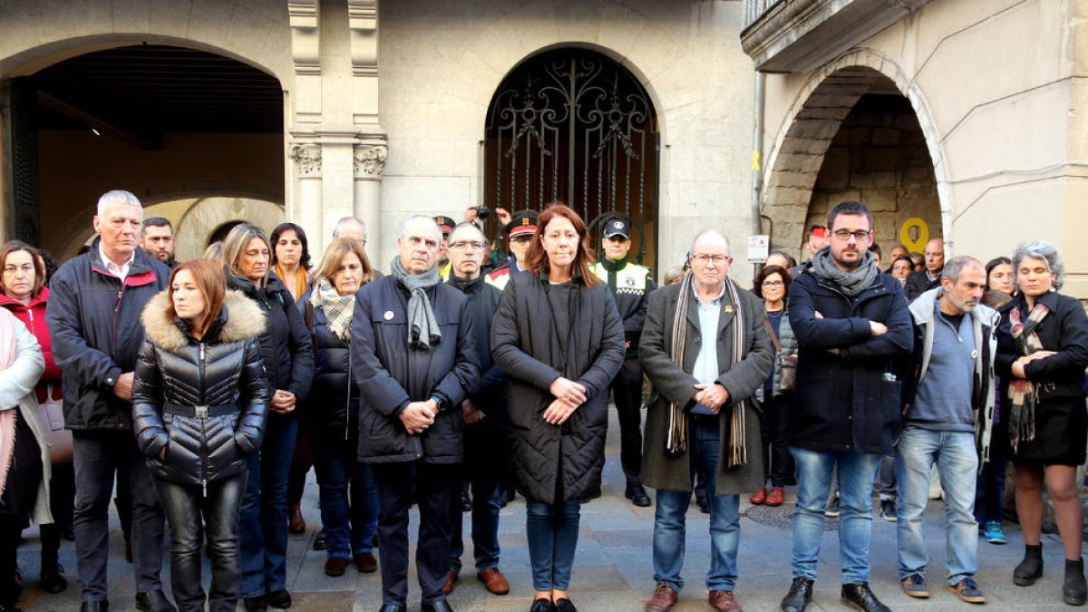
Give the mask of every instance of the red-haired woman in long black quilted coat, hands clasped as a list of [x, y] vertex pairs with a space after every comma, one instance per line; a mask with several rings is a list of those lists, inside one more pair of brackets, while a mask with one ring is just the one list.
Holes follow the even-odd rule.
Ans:
[[491, 331], [509, 381], [508, 418], [536, 596], [532, 612], [570, 612], [582, 499], [601, 493], [608, 385], [623, 326], [590, 272], [585, 224], [555, 204], [540, 216], [528, 268], [511, 277]]

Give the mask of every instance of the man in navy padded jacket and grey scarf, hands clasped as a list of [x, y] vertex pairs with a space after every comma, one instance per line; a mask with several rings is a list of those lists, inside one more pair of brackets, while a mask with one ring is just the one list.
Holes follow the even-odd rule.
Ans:
[[[480, 381], [465, 294], [438, 281], [442, 233], [412, 217], [397, 238], [391, 272], [363, 285], [351, 322], [351, 360], [361, 394], [359, 461], [378, 485], [383, 611], [408, 599], [408, 507], [419, 502], [416, 565], [424, 611], [450, 610], [449, 502], [461, 462], [461, 402]], [[459, 488], [458, 488], [459, 490]]]

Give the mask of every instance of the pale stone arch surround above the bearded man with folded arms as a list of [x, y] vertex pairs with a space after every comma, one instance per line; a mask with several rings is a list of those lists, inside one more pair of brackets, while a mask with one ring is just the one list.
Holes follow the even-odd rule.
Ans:
[[911, 102], [932, 160], [945, 248], [952, 244], [948, 178], [940, 138], [920, 89], [889, 58], [854, 49], [814, 71], [800, 89], [775, 140], [764, 176], [762, 213], [774, 222], [772, 248], [798, 254], [805, 218], [825, 154], [857, 101], [880, 79], [890, 79]]

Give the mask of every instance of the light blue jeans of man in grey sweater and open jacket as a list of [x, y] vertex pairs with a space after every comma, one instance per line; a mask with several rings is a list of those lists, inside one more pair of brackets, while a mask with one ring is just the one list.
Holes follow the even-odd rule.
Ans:
[[975, 475], [978, 455], [969, 431], [931, 431], [907, 426], [895, 444], [899, 479], [899, 577], [926, 574], [922, 513], [929, 502], [934, 464], [944, 489], [944, 564], [948, 584], [978, 570], [978, 524], [975, 523]]

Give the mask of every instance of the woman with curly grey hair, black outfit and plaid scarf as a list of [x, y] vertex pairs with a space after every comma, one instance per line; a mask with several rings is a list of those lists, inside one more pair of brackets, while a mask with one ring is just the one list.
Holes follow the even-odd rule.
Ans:
[[1027, 242], [1016, 247], [1017, 291], [1000, 310], [994, 368], [1006, 383], [1001, 418], [1013, 445], [1016, 513], [1024, 531], [1024, 561], [1013, 580], [1027, 586], [1042, 575], [1046, 481], [1065, 549], [1063, 596], [1066, 603], [1080, 605], [1088, 601], [1088, 588], [1080, 558], [1084, 519], [1076, 474], [1088, 443], [1084, 388], [1088, 316], [1080, 302], [1058, 293], [1064, 271], [1050, 244]]

